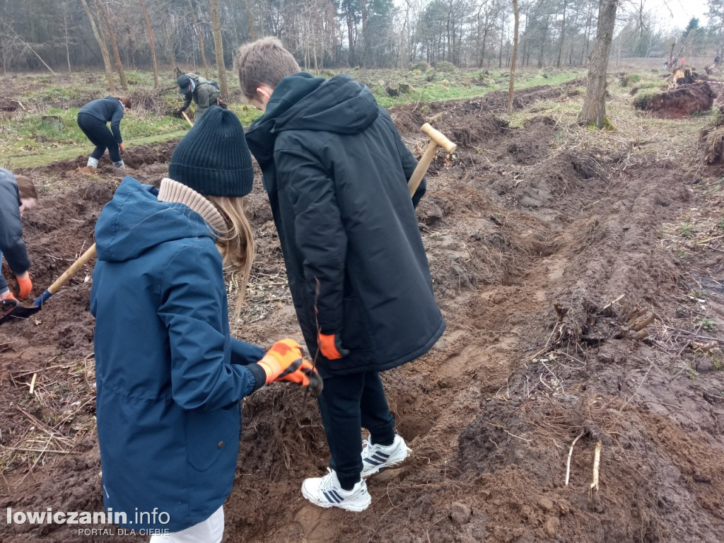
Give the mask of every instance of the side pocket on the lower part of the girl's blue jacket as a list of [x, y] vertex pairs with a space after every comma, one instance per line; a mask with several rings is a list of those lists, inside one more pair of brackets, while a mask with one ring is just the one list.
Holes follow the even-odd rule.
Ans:
[[205, 471], [227, 447], [239, 441], [239, 404], [215, 411], [186, 413], [186, 450], [188, 462], [198, 471]]

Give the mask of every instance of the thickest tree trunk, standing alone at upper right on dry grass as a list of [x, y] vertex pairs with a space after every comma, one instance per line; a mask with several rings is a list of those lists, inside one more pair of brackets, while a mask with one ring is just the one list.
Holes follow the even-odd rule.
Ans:
[[613, 41], [618, 0], [600, 0], [596, 42], [589, 57], [589, 75], [584, 106], [578, 114], [581, 125], [602, 128], [606, 122], [606, 71]]

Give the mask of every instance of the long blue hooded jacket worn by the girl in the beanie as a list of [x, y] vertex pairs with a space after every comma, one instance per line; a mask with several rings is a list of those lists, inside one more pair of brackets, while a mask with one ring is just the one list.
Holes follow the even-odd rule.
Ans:
[[96, 418], [106, 510], [180, 531], [231, 492], [239, 402], [265, 380], [247, 364], [264, 350], [230, 337], [209, 226], [157, 194], [125, 177], [96, 224]]

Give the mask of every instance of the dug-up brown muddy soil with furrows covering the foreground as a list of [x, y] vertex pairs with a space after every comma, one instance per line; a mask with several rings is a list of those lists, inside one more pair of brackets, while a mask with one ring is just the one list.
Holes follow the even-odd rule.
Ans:
[[[571, 89], [523, 91], [515, 107]], [[315, 508], [300, 485], [327, 467], [316, 403], [264, 387], [243, 403], [224, 542], [722, 541], [724, 251], [716, 230], [699, 251], [670, 243], [682, 214], [716, 224], [721, 188], [668, 161], [561, 149], [554, 119], [512, 128], [505, 106], [491, 95], [391, 110], [416, 153], [426, 121], [458, 143], [432, 164], [418, 207], [447, 331], [384, 374], [411, 458], [370, 479], [363, 513]], [[127, 173], [157, 184], [172, 148], [131, 148]], [[20, 172], [45, 191], [25, 219], [34, 295], [93, 243], [120, 180], [84, 164]], [[265, 347], [300, 340], [259, 185], [250, 214], [258, 260], [232, 329]], [[28, 321], [0, 327], [0, 509], [102, 508], [91, 271]], [[5, 523], [0, 539], [144, 540]]]

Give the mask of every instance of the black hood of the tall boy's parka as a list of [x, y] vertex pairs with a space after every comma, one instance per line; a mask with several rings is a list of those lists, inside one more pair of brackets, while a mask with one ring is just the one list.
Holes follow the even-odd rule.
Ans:
[[371, 91], [346, 74], [329, 80], [307, 72], [288, 75], [274, 88], [264, 115], [251, 124], [247, 143], [256, 160], [271, 159], [274, 140], [285, 130], [357, 134], [379, 115]]

